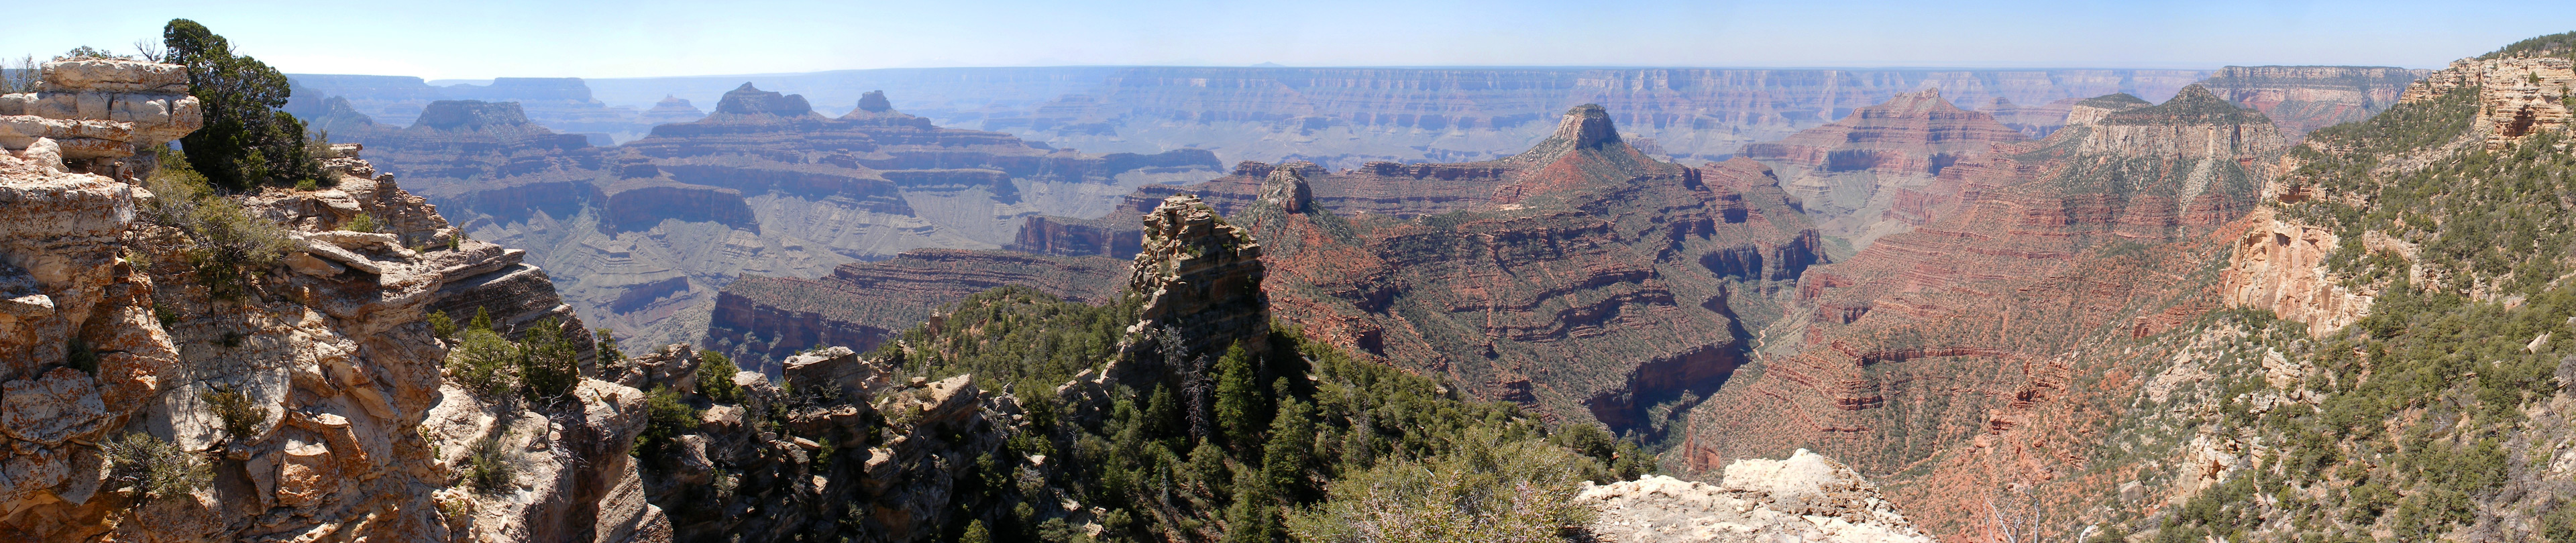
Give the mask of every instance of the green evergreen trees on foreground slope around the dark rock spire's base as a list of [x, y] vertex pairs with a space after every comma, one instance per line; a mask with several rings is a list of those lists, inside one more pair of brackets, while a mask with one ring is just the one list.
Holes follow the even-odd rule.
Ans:
[[[1121, 340], [1185, 342], [1128, 337], [1133, 304], [1087, 306], [994, 288], [868, 358], [925, 378], [974, 373], [984, 389], [1015, 391], [1028, 432], [1012, 435], [1007, 453], [979, 458], [974, 471], [1015, 474], [1028, 456], [1051, 458], [1056, 479], [1046, 486], [1103, 510], [1095, 520], [1105, 530], [1090, 540], [1329, 540], [1347, 530], [1324, 525], [1360, 522], [1352, 517], [1360, 512], [1378, 512], [1370, 522], [1386, 525], [1450, 525], [1437, 533], [1445, 538], [1425, 540], [1561, 538], [1564, 522], [1589, 515], [1571, 499], [1577, 481], [1631, 479], [1654, 466], [1600, 427], [1553, 435], [1517, 404], [1463, 399], [1432, 378], [1288, 329], [1260, 347], [1216, 350], [1216, 360], [1167, 360], [1175, 371], [1162, 383], [1121, 386], [1097, 417], [1072, 417], [1077, 409], [1051, 391], [1079, 371], [1103, 368]], [[1193, 432], [1200, 425], [1193, 391], [1206, 394], [1198, 409], [1206, 409], [1208, 432]], [[899, 422], [904, 414], [886, 417]], [[1425, 471], [1443, 481], [1417, 476]], [[1365, 484], [1345, 484], [1350, 479]], [[958, 486], [951, 502], [1010, 512], [1041, 499], [1025, 492], [976, 481]], [[1051, 504], [1036, 502], [1036, 510]], [[969, 520], [958, 522], [951, 535]], [[1043, 517], [976, 522], [994, 540], [1079, 540], [1079, 530], [1051, 528]]]

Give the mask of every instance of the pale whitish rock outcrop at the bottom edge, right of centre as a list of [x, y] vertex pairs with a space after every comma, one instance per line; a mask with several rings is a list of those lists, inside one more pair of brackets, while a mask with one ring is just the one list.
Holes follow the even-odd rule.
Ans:
[[1643, 476], [1579, 494], [1600, 504], [1602, 543], [1932, 543], [1878, 486], [1819, 453], [1747, 458], [1721, 484]]

